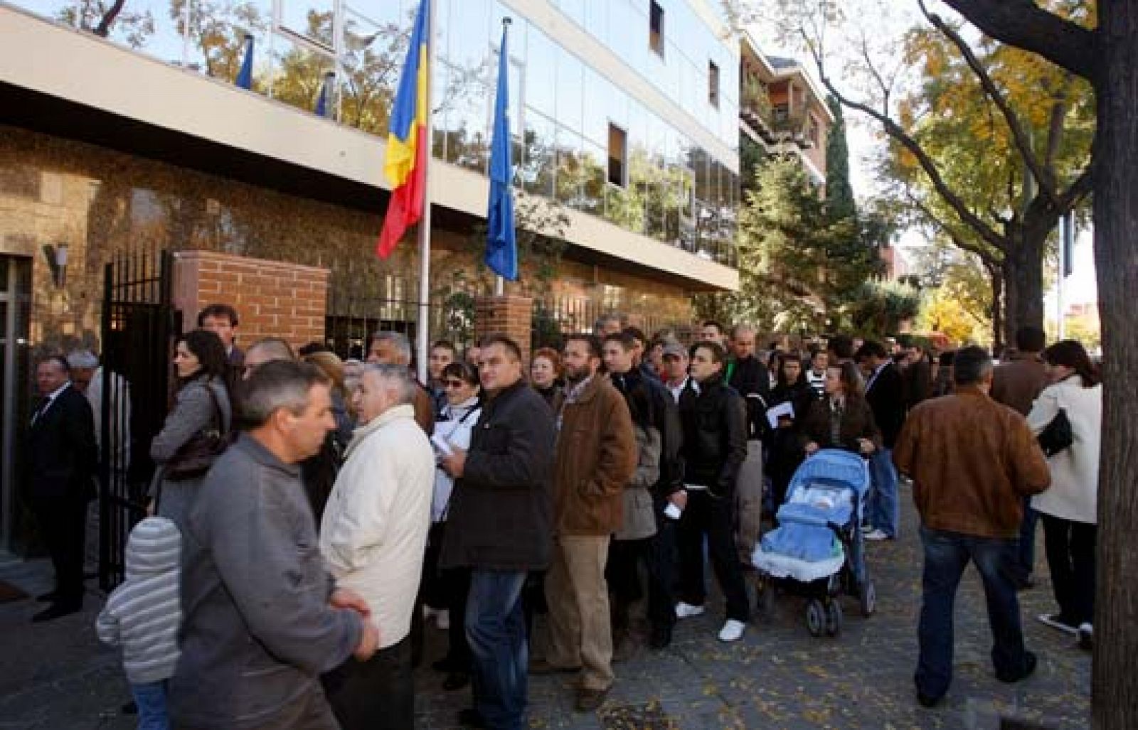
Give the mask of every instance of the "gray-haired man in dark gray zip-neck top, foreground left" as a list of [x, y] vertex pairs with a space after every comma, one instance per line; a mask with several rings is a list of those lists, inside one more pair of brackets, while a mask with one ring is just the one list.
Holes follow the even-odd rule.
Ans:
[[240, 439], [214, 464], [183, 539], [178, 728], [337, 728], [320, 674], [368, 660], [366, 603], [332, 589], [299, 462], [336, 426], [313, 365], [273, 362], [247, 381]]

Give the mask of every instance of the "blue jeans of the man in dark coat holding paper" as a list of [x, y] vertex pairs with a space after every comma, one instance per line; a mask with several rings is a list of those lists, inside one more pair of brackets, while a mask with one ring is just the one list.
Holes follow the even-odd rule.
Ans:
[[529, 654], [521, 589], [526, 571], [473, 569], [467, 600], [475, 708], [486, 727], [520, 730]]

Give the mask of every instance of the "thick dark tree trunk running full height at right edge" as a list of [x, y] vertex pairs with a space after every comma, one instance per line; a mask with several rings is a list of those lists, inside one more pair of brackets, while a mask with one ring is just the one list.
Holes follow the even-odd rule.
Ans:
[[1103, 323], [1103, 430], [1095, 597], [1094, 727], [1138, 717], [1138, 3], [1098, 3], [1095, 265]]

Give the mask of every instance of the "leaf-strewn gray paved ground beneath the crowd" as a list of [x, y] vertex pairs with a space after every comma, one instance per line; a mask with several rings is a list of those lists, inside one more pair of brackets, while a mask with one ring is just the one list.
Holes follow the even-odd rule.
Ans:
[[[596, 713], [572, 711], [570, 677], [530, 678], [534, 728], [998, 728], [1001, 716], [1045, 728], [1089, 723], [1090, 655], [1073, 639], [1034, 616], [1052, 609], [1050, 586], [1039, 551], [1039, 584], [1021, 594], [1029, 648], [1039, 654], [1036, 674], [1017, 685], [996, 681], [979, 576], [970, 569], [956, 608], [953, 687], [935, 710], [916, 704], [916, 617], [921, 555], [916, 519], [906, 498], [902, 538], [868, 546], [877, 587], [877, 613], [864, 619], [846, 599], [846, 624], [836, 638], [813, 638], [803, 599], [780, 595], [770, 617], [757, 617], [744, 638], [720, 644], [719, 603], [677, 625], [667, 650], [637, 652], [616, 665], [617, 683]], [[1041, 540], [1040, 540], [1041, 542]], [[0, 579], [44, 589], [42, 563], [0, 566]], [[36, 581], [39, 584], [35, 586]], [[31, 624], [32, 600], [0, 605], [0, 728], [133, 728], [118, 714], [127, 699], [117, 658], [100, 647], [93, 621], [100, 602], [89, 596], [83, 614]], [[468, 690], [445, 692], [429, 663], [444, 650], [444, 632], [428, 628], [419, 670], [422, 728], [455, 727]]]

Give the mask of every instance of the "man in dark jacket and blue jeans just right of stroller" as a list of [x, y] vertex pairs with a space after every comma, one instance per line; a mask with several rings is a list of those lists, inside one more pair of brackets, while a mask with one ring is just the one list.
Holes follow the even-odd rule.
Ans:
[[893, 445], [905, 423], [905, 385], [901, 373], [880, 342], [864, 343], [853, 359], [865, 374], [865, 399], [873, 408], [873, 420], [881, 429], [882, 446], [869, 457], [873, 493], [868, 504], [867, 540], [896, 540], [900, 523], [897, 499], [897, 470], [893, 468]]

